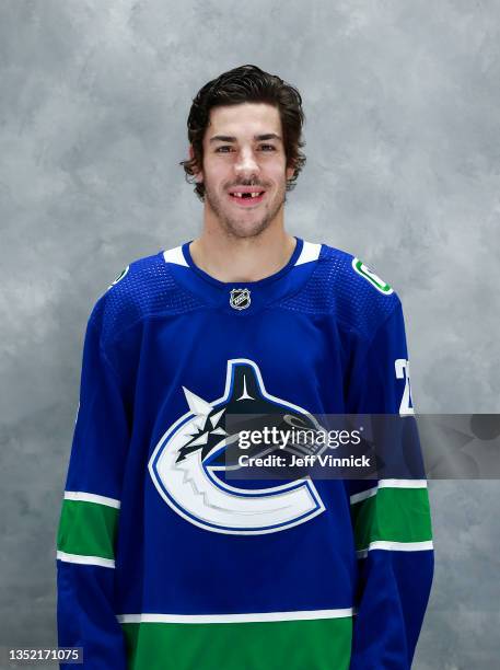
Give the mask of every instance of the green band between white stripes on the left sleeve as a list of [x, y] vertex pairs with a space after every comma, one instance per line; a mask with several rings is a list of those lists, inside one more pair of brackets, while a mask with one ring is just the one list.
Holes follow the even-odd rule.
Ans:
[[119, 510], [82, 500], [62, 503], [57, 548], [66, 554], [115, 558]]

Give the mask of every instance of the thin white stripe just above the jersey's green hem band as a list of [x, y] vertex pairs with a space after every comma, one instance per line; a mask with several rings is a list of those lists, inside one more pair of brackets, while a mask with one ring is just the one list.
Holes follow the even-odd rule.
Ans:
[[272, 621], [311, 621], [352, 616], [353, 609], [299, 610], [296, 612], [245, 612], [241, 614], [118, 614], [119, 623], [228, 624]]

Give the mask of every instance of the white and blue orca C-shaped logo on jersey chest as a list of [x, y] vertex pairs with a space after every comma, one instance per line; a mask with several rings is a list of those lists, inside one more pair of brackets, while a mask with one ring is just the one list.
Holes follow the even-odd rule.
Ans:
[[[234, 469], [231, 449], [234, 453], [237, 439], [237, 434], [229, 436], [222, 427], [225, 414], [268, 417], [274, 413], [281, 420], [286, 416], [286, 420], [321, 429], [305, 409], [266, 391], [254, 361], [228, 361], [220, 398], [206, 401], [187, 389], [184, 393], [189, 411], [168, 428], [149, 462], [158, 492], [181, 517], [208, 531], [248, 535], [286, 530], [325, 510], [309, 477], [265, 488], [240, 488], [219, 476]], [[272, 449], [276, 447], [267, 451]]]

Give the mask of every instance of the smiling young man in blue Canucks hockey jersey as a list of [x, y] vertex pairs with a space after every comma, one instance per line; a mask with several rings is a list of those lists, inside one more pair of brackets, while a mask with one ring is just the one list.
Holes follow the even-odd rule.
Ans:
[[303, 118], [254, 66], [206, 84], [183, 162], [201, 234], [131, 263], [89, 320], [57, 553], [59, 644], [85, 668], [411, 665], [426, 481], [225, 476], [230, 413], [412, 412], [396, 293], [284, 229]]

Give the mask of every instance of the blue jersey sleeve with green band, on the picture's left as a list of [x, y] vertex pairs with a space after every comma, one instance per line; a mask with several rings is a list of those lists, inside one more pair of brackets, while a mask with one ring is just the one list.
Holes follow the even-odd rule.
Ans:
[[128, 442], [123, 390], [91, 316], [56, 562], [59, 646], [82, 647], [83, 668], [126, 668], [114, 579]]

